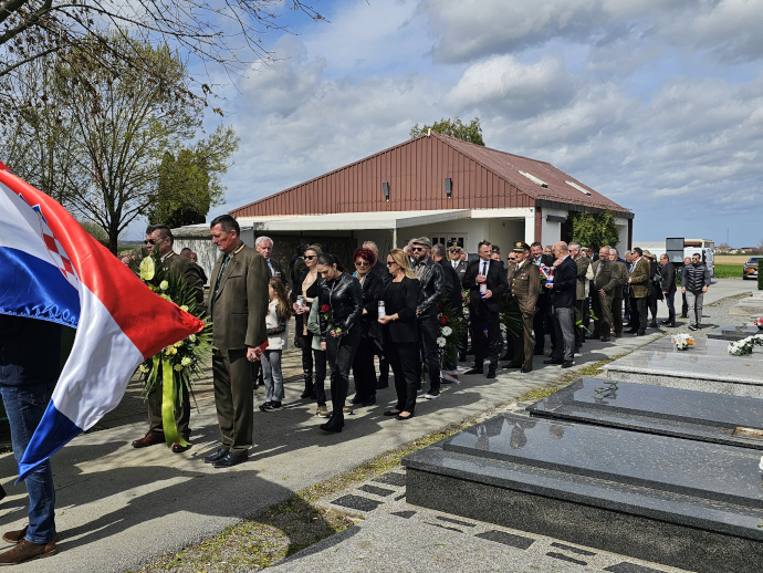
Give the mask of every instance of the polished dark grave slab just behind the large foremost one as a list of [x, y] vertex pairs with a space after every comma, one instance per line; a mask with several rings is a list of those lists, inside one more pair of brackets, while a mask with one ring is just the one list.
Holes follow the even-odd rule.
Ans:
[[583, 378], [527, 406], [532, 416], [763, 450], [763, 399]]

